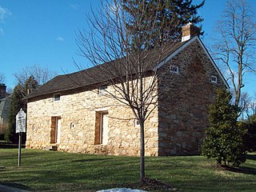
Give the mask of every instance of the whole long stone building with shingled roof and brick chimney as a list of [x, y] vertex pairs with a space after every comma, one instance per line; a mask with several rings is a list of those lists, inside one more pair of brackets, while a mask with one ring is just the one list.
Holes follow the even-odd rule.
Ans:
[[[182, 42], [158, 63], [159, 71], [170, 69], [158, 87], [167, 86], [170, 74], [175, 83], [158, 97], [158, 107], [145, 122], [148, 156], [198, 154], [215, 89], [228, 87], [197, 30], [193, 25], [183, 27]], [[84, 72], [88, 71], [98, 73], [95, 67]], [[26, 148], [139, 155], [138, 122], [129, 107], [104, 95], [106, 89], [114, 91], [86, 81], [83, 72], [77, 72], [59, 75], [34, 90], [25, 98]]]

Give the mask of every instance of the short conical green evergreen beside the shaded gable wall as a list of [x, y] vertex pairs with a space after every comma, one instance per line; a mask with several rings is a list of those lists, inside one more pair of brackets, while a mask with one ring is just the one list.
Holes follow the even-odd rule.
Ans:
[[245, 131], [238, 126], [238, 107], [231, 104], [231, 94], [218, 90], [210, 106], [210, 127], [202, 145], [202, 154], [215, 158], [220, 166], [239, 166], [246, 161], [242, 137]]

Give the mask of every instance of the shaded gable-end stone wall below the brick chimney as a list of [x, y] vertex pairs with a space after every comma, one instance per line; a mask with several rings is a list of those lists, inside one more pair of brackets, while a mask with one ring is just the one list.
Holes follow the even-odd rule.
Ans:
[[225, 87], [211, 82], [218, 76], [210, 59], [198, 41], [187, 46], [164, 67], [178, 66], [178, 74], [166, 73], [159, 84], [170, 85], [162, 91], [159, 86], [159, 155], [198, 154], [209, 125], [208, 111], [214, 102], [215, 89]]

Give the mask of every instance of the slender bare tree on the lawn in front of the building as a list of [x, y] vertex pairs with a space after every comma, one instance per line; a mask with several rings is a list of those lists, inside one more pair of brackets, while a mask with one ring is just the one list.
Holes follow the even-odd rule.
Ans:
[[[126, 6], [132, 8], [134, 6], [132, 3], [129, 1]], [[149, 13], [150, 9], [146, 5], [145, 1], [138, 1], [140, 9], [133, 13], [138, 17], [134, 21], [134, 18], [122, 9], [120, 1], [113, 0], [105, 2], [104, 5], [102, 3], [97, 12], [92, 11], [92, 15], [87, 15], [90, 29], [79, 30], [77, 38], [79, 54], [89, 59], [90, 64], [98, 68], [98, 74], [90, 74], [90, 70], [86, 70], [85, 78], [94, 83], [111, 86], [114, 91], [106, 90], [106, 95], [129, 106], [134, 118], [138, 119], [140, 125], [141, 180], [145, 178], [144, 122], [158, 106], [157, 98], [161, 92], [170, 89], [170, 87], [161, 86], [161, 80], [166, 69], [164, 67], [158, 68], [158, 64], [164, 62], [163, 59], [170, 53], [168, 51], [176, 43], [174, 40], [169, 41], [166, 36], [163, 37], [165, 43], [162, 46], [153, 50], [145, 49], [146, 42], [150, 39], [149, 35], [154, 33], [144, 36], [141, 35], [142, 31], [151, 32], [155, 26], [165, 25], [165, 23], [158, 22], [158, 15]], [[156, 3], [155, 5], [160, 4]], [[146, 23], [143, 19], [145, 14], [150, 14]], [[133, 29], [130, 30], [127, 28], [129, 26], [127, 23], [132, 22]], [[178, 26], [178, 24], [177, 19], [172, 20], [173, 26]], [[133, 42], [136, 43], [136, 52], [131, 48], [134, 34], [137, 37]], [[102, 63], [104, 64], [102, 65]], [[78, 66], [80, 70], [86, 67]], [[168, 67], [167, 70], [170, 71], [170, 68]], [[169, 81], [171, 86], [174, 78], [171, 78], [170, 75]]]

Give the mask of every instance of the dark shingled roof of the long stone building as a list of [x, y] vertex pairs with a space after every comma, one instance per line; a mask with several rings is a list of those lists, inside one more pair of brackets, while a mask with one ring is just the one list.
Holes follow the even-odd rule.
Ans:
[[[166, 51], [165, 54], [162, 55], [162, 60], [164, 60], [167, 56], [172, 54], [175, 50], [178, 50], [182, 45], [184, 45], [186, 42], [179, 42], [175, 46], [170, 46], [170, 49]], [[153, 68], [156, 66], [156, 58], [158, 58], [159, 50], [150, 51], [150, 55], [146, 58], [147, 61], [150, 61], [149, 63], [153, 63], [151, 66], [147, 66], [146, 70], [150, 71], [153, 70]], [[63, 74], [58, 75], [55, 78], [51, 79], [49, 82], [46, 82], [42, 86], [40, 86], [38, 89], [32, 91], [30, 94], [28, 94], [23, 99], [28, 98], [35, 98], [41, 95], [46, 94], [55, 94], [60, 93], [62, 91], [66, 90], [74, 90], [78, 89], [80, 87], [84, 86], [90, 86], [95, 83], [99, 82], [106, 82], [107, 80], [110, 80], [111, 78], [117, 78], [114, 77], [113, 73], [109, 73], [109, 70], [112, 67], [116, 67], [118, 70], [119, 75], [118, 77], [121, 77], [125, 74], [125, 70], [122, 70], [122, 65], [120, 63], [126, 62], [126, 59], [117, 59], [111, 62], [104, 63], [99, 66], [94, 66], [86, 70], [81, 70], [72, 74]], [[104, 70], [106, 75], [102, 75], [102, 70]]]

